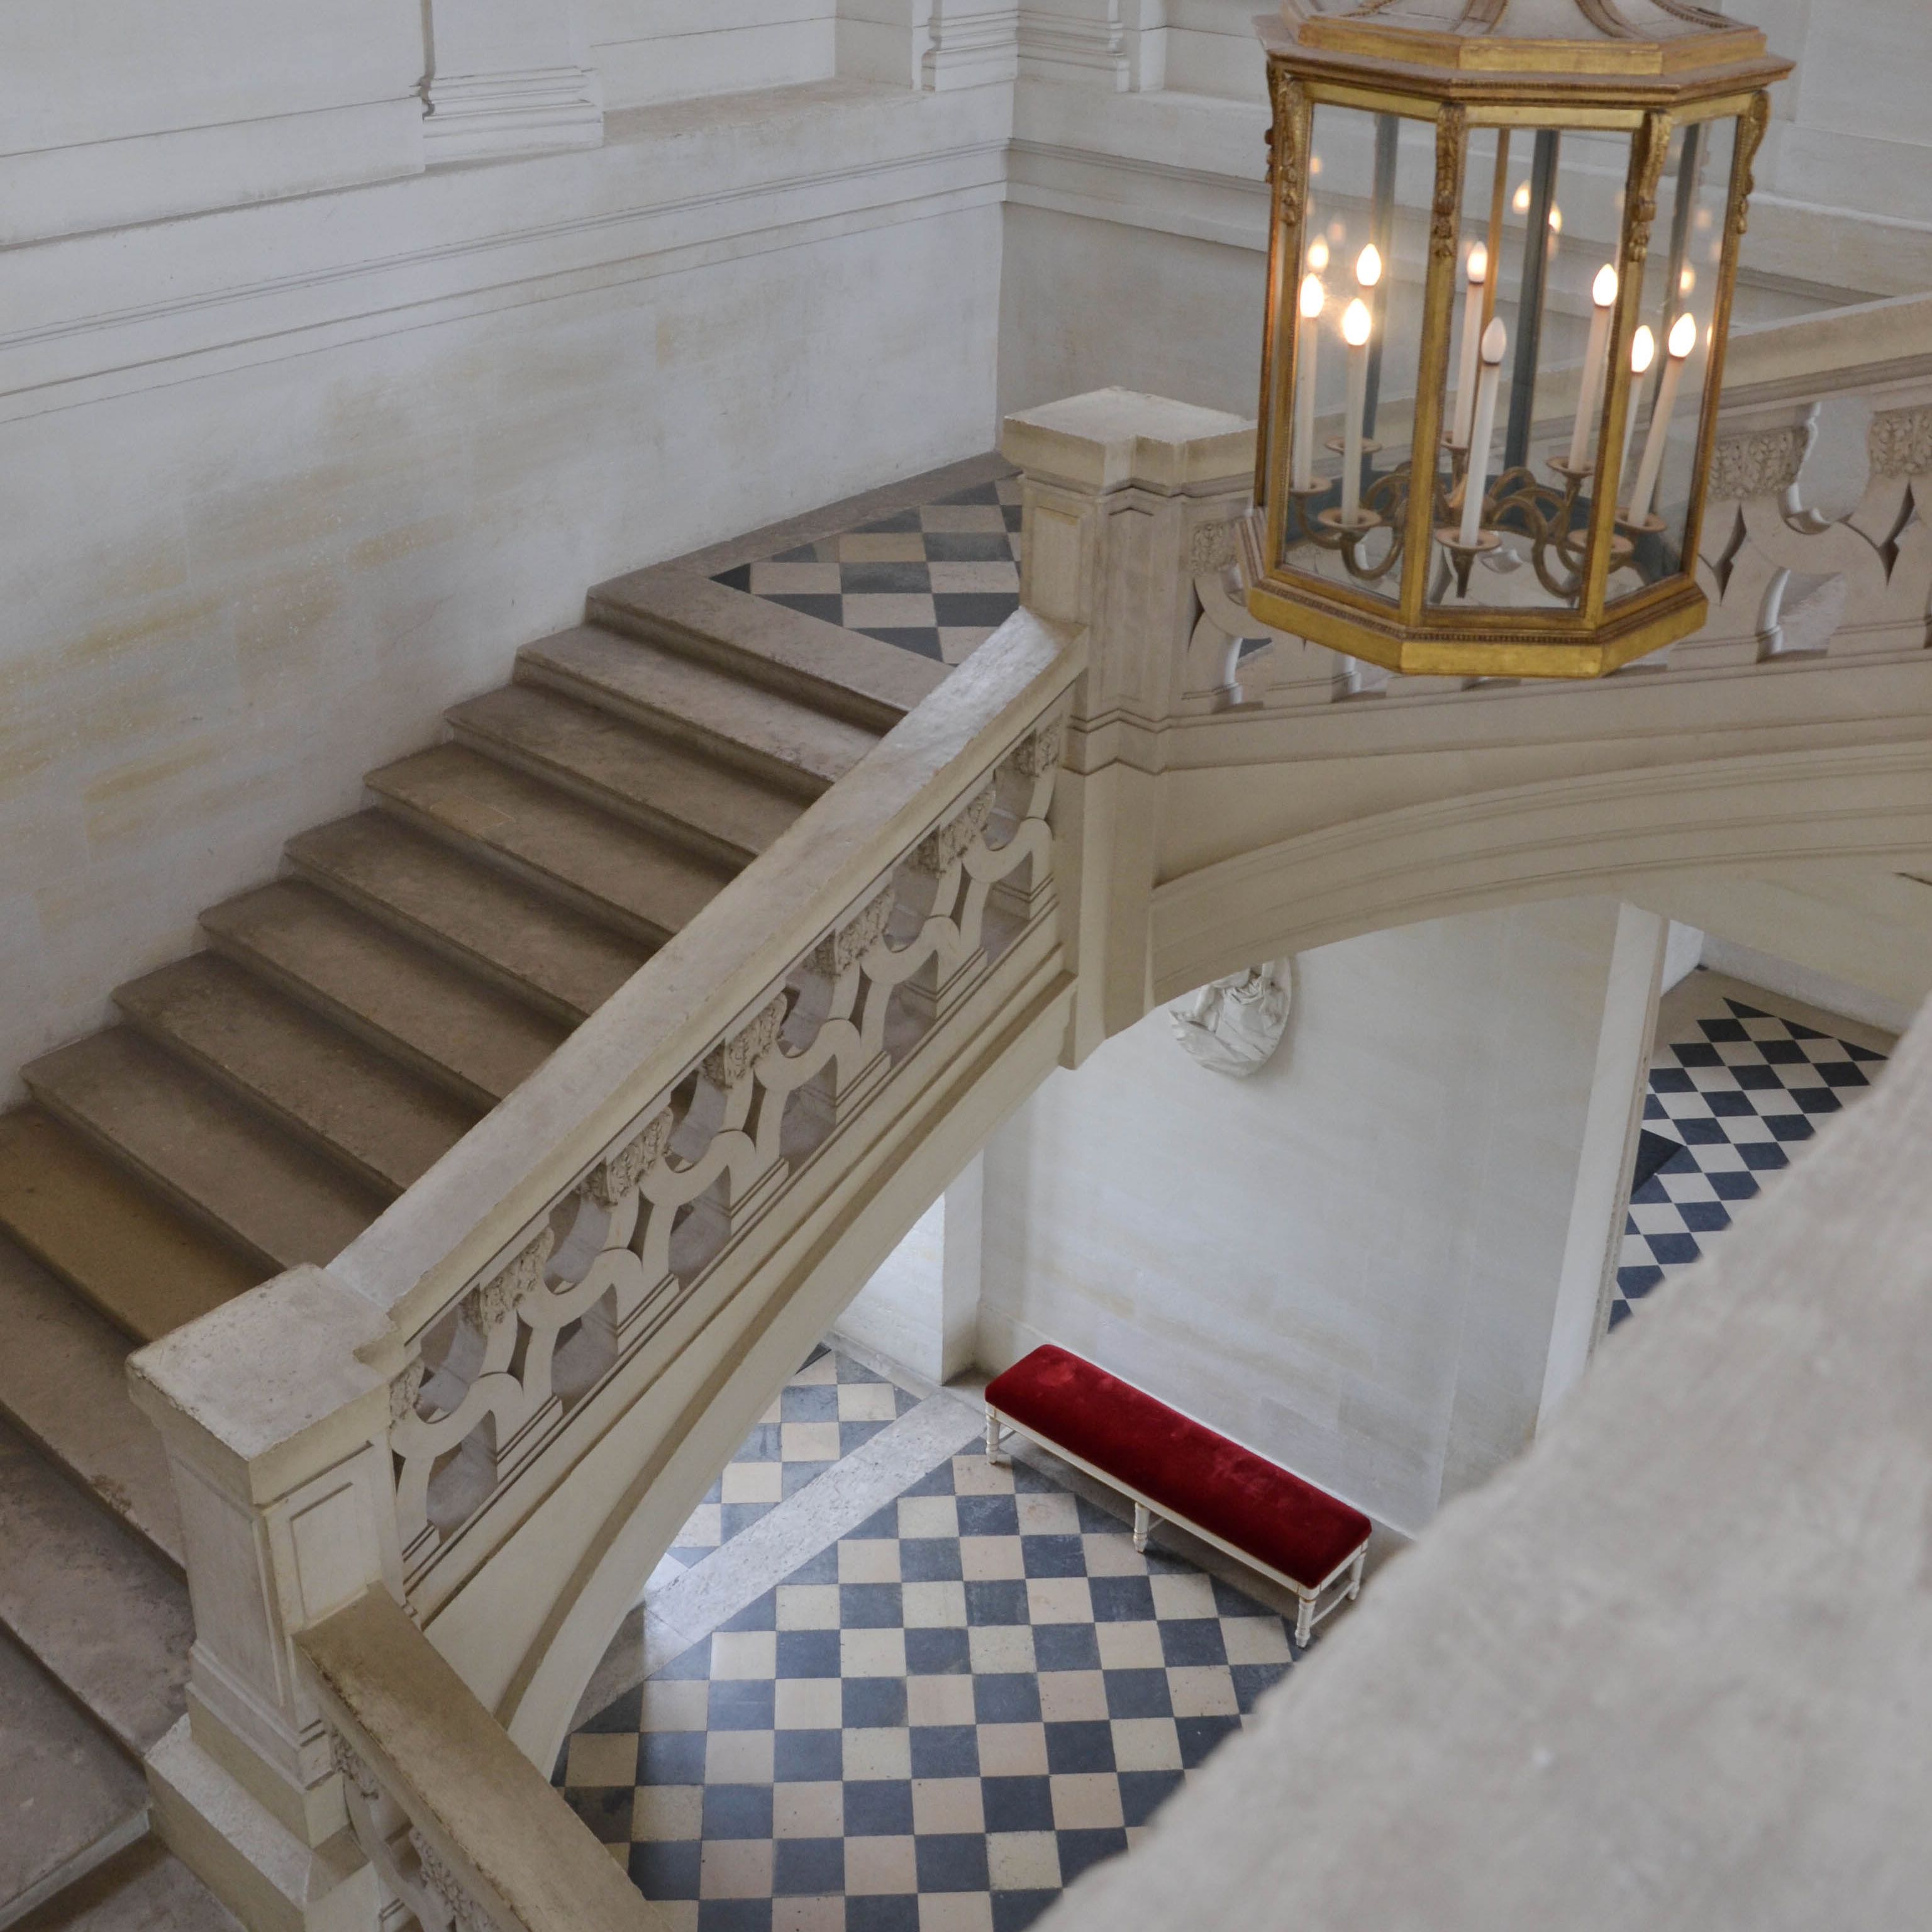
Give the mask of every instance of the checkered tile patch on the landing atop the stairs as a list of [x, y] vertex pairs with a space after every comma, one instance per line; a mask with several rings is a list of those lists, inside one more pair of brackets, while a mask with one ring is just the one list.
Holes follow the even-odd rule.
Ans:
[[717, 582], [956, 665], [1020, 607], [1020, 479], [898, 510]]

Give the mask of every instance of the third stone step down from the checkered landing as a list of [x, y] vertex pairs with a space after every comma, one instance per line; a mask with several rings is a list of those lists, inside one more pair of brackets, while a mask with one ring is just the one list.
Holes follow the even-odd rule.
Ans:
[[663, 945], [730, 873], [460, 744], [369, 773], [386, 811]]

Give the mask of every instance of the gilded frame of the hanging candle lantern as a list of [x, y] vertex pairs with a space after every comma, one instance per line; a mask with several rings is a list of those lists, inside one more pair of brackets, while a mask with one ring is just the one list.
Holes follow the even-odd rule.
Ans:
[[[1399, 0], [1395, 8], [1389, 0], [1354, 0], [1350, 14], [1321, 12], [1321, 6], [1323, 0], [1287, 0], [1281, 17], [1256, 21], [1267, 50], [1273, 128], [1256, 512], [1242, 539], [1250, 612], [1271, 630], [1422, 676], [1596, 678], [1689, 636], [1708, 612], [1696, 583], [1696, 556], [1752, 162], [1770, 118], [1766, 89], [1791, 71], [1791, 62], [1768, 54], [1758, 29], [1687, 0], [1648, 0], [1652, 12], [1683, 23], [1681, 31], [1658, 39], [1634, 35], [1617, 14], [1615, 0], [1575, 0], [1577, 39], [1509, 37], [1509, 0], [1408, 0], [1406, 6]], [[1412, 19], [1432, 10], [1461, 31], [1403, 23], [1405, 14]], [[1517, 129], [1631, 137], [1600, 464], [1573, 609], [1430, 607], [1432, 537], [1439, 508], [1434, 485], [1406, 491], [1397, 533], [1403, 545], [1401, 585], [1393, 603], [1283, 562], [1300, 348], [1294, 286], [1306, 253], [1310, 129], [1321, 104], [1434, 124], [1435, 189], [1410, 431], [1412, 475], [1418, 454], [1434, 452], [1443, 435], [1470, 133], [1493, 128], [1499, 141]], [[1737, 122], [1737, 139], [1679, 572], [1611, 603], [1625, 419], [1633, 386], [1640, 381], [1631, 373], [1631, 342], [1640, 319], [1658, 189], [1673, 133], [1719, 120]], [[1497, 232], [1499, 203], [1492, 213], [1492, 259]], [[1493, 278], [1495, 269], [1492, 286]], [[1459, 558], [1459, 568], [1466, 572], [1466, 560]]]

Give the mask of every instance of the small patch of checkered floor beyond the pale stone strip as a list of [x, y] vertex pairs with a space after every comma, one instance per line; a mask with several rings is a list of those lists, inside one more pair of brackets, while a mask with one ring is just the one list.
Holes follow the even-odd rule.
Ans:
[[848, 1354], [813, 1349], [678, 1530], [672, 1561], [701, 1563], [918, 1401]]

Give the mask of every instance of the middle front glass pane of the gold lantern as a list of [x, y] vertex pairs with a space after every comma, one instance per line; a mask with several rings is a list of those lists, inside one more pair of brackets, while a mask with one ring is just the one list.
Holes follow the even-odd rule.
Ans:
[[[1441, 535], [1428, 601], [1445, 611], [1575, 611], [1588, 583], [1596, 458], [1611, 354], [1613, 282], [1631, 137], [1563, 128], [1476, 128], [1463, 170], [1453, 327], [1443, 371], [1441, 531], [1463, 531], [1463, 477], [1480, 462], [1480, 529], [1461, 574]], [[1478, 255], [1480, 251], [1480, 255]], [[1472, 269], [1480, 267], [1476, 280]], [[1480, 342], [1499, 323], [1488, 442]], [[1588, 377], [1588, 392], [1586, 392]], [[1578, 427], [1580, 417], [1580, 427]]]

